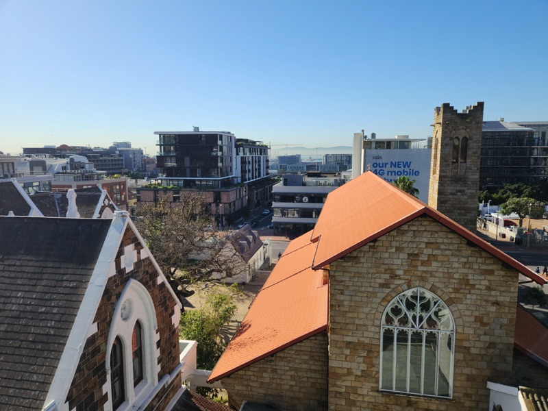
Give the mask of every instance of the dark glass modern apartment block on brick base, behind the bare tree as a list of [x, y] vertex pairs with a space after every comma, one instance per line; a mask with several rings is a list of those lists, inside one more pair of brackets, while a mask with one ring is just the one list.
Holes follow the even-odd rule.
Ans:
[[[268, 147], [262, 142], [238, 139], [230, 132], [155, 132], [160, 175], [152, 185], [137, 189], [137, 208], [158, 201], [158, 192], [201, 190], [219, 224], [229, 225], [249, 209], [271, 201]], [[162, 187], [162, 188], [160, 188]], [[171, 198], [171, 197], [170, 197]]]

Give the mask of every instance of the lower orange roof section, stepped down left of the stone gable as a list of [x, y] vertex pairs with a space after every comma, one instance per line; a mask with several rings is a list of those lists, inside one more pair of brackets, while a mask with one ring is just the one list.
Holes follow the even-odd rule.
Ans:
[[208, 382], [327, 329], [327, 286], [322, 286], [322, 270], [310, 266], [316, 245], [303, 237], [292, 244], [308, 244], [276, 264]]

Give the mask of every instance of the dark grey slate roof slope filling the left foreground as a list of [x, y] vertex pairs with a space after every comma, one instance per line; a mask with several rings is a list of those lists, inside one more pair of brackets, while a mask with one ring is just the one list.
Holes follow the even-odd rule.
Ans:
[[110, 220], [0, 217], [0, 403], [41, 409]]

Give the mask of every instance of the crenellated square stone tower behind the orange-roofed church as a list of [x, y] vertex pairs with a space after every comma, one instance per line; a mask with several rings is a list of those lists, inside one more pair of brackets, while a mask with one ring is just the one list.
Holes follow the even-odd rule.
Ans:
[[428, 205], [475, 232], [484, 103], [434, 109]]

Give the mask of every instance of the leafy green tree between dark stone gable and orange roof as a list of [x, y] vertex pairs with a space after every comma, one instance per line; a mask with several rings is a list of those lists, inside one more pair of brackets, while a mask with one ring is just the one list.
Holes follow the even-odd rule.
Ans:
[[[197, 347], [197, 366], [199, 369], [212, 370], [227, 346], [223, 338], [223, 329], [236, 313], [234, 292], [236, 284], [230, 287], [218, 286], [210, 292], [201, 307], [187, 310], [181, 316], [179, 333], [181, 338], [195, 340]], [[198, 393], [207, 397], [216, 397], [214, 388], [199, 387]]]

